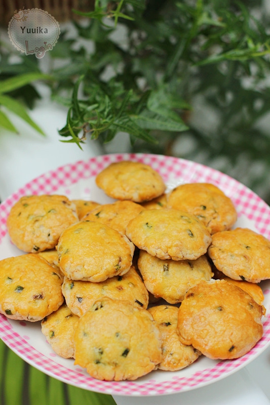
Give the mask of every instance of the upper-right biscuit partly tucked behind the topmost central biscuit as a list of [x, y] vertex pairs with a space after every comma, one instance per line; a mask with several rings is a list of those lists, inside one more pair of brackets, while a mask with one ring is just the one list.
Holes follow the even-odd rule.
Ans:
[[168, 207], [195, 215], [211, 234], [232, 228], [237, 220], [232, 200], [210, 183], [177, 186], [168, 195]]

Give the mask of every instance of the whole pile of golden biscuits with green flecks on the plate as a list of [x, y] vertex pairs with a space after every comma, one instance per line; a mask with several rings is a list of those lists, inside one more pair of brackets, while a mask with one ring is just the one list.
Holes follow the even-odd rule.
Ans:
[[41, 321], [53, 350], [101, 380], [232, 359], [263, 335], [270, 241], [234, 228], [230, 198], [209, 183], [166, 192], [139, 161], [96, 177], [110, 204], [22, 197], [7, 227], [22, 254], [0, 261], [0, 312]]

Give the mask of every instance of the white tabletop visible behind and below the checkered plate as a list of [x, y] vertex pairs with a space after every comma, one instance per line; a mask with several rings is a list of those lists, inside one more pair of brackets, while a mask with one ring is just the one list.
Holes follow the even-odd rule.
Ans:
[[[0, 129], [0, 199], [33, 178], [67, 163], [88, 159], [101, 154], [94, 141], [88, 141], [84, 150], [70, 143], [61, 143], [57, 130], [65, 124], [66, 110], [49, 101], [49, 96], [37, 103], [31, 117], [46, 133], [42, 137], [16, 117], [20, 135]], [[129, 405], [223, 405], [270, 404], [270, 347], [244, 369], [223, 380], [191, 391], [158, 397], [129, 397]], [[127, 403], [125, 396], [113, 396], [118, 405]]]

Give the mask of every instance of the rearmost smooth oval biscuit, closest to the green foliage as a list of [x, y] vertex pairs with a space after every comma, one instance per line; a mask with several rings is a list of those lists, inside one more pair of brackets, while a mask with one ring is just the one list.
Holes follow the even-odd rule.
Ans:
[[96, 176], [96, 184], [108, 196], [135, 203], [148, 201], [164, 193], [166, 185], [159, 173], [137, 161], [111, 163]]

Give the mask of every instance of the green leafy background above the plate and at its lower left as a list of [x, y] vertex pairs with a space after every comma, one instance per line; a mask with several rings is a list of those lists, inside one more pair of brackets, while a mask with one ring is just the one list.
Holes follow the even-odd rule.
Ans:
[[[60, 24], [40, 60], [18, 52], [7, 34], [23, 8]], [[63, 148], [60, 141], [73, 143], [74, 156], [90, 139], [98, 153], [190, 159], [270, 204], [268, 0], [1, 0], [0, 25], [0, 144], [20, 134], [17, 119], [36, 139], [48, 136], [29, 119], [45, 89], [64, 114], [55, 137]], [[114, 403], [43, 375], [2, 342], [1, 364], [3, 405]]]

